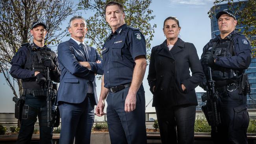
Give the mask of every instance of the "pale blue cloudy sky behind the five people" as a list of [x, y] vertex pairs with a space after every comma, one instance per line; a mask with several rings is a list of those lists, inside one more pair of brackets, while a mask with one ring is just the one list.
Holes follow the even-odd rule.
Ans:
[[[161, 44], [164, 40], [163, 21], [169, 16], [177, 17], [180, 21], [181, 31], [180, 38], [185, 42], [191, 42], [197, 48], [197, 54], [200, 57], [202, 48], [211, 39], [211, 24], [207, 12], [213, 6], [214, 0], [152, 0], [150, 9], [153, 10], [152, 15], [155, 19], [151, 24], [157, 24], [151, 46]], [[82, 16], [84, 12], [82, 12]], [[69, 18], [63, 22], [63, 27], [68, 25]], [[70, 37], [65, 37], [62, 41], [67, 41]], [[147, 83], [148, 67], [143, 79], [145, 89], [146, 104], [152, 99]], [[96, 82], [97, 94], [100, 94], [100, 81]], [[199, 87], [196, 92], [202, 92]], [[3, 74], [0, 74], [0, 113], [13, 113], [14, 102], [12, 101], [13, 92], [6, 84]], [[148, 105], [146, 112], [154, 112], [151, 107], [152, 102]], [[106, 109], [106, 108], [105, 108]]]

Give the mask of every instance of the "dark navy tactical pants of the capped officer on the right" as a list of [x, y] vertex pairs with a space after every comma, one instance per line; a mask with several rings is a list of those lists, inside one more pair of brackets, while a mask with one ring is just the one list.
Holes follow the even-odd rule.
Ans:
[[[247, 144], [247, 127], [249, 114], [247, 112], [247, 97], [238, 94], [236, 90], [219, 93], [218, 109], [221, 125], [211, 129], [211, 137], [215, 144]], [[207, 103], [208, 107], [210, 103]]]

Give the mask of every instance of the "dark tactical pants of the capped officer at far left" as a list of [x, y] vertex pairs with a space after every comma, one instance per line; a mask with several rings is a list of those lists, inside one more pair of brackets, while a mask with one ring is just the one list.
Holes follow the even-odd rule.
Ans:
[[[55, 106], [52, 102], [52, 113]], [[29, 144], [34, 131], [34, 125], [39, 119], [40, 144], [52, 144], [53, 127], [47, 126], [46, 97], [33, 97], [32, 94], [25, 95], [20, 132], [16, 144]]]

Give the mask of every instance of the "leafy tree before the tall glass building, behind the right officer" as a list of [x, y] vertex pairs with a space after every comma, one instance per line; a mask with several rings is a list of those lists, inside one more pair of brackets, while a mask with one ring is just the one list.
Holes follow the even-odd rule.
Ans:
[[[227, 3], [231, 11], [239, 18], [237, 20], [237, 28], [244, 28], [243, 34], [248, 37], [251, 45], [254, 47], [252, 50], [252, 57], [256, 57], [256, 0], [238, 1], [233, 0], [215, 0], [214, 6], [208, 12], [209, 17], [215, 14], [215, 10], [220, 9], [219, 4]], [[241, 31], [241, 29], [238, 29]]]

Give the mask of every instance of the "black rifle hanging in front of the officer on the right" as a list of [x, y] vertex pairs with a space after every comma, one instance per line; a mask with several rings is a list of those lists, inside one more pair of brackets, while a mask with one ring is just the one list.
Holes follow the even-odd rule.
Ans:
[[217, 132], [217, 126], [221, 123], [220, 113], [217, 109], [219, 94], [215, 90], [215, 81], [212, 79], [211, 67], [208, 67], [208, 73], [209, 80], [206, 82], [207, 90], [206, 93], [202, 95], [202, 101], [210, 102], [211, 111], [207, 109], [207, 104], [202, 106], [202, 111], [204, 112], [208, 124], [214, 127], [215, 132]]

